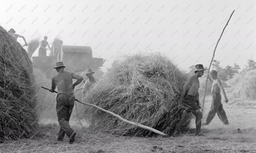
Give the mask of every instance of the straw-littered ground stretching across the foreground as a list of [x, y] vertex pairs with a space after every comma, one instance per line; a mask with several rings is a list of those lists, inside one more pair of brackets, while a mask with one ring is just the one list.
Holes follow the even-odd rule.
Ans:
[[[241, 103], [241, 102], [240, 102]], [[244, 102], [246, 103], [246, 102]], [[252, 103], [252, 102], [250, 102]], [[256, 102], [255, 102], [256, 103]], [[77, 131], [74, 144], [56, 141], [59, 125], [44, 120], [40, 129], [44, 137], [21, 139], [0, 144], [2, 153], [256, 153], [256, 109], [230, 102], [223, 104], [230, 124], [223, 125], [216, 115], [204, 126], [204, 137], [195, 137], [194, 120], [191, 130], [181, 137], [128, 137], [107, 132], [82, 129], [77, 121], [70, 121]], [[210, 109], [210, 97], [205, 104], [204, 119]], [[75, 110], [73, 113], [76, 113]], [[86, 122], [82, 122], [87, 126]], [[241, 129], [241, 133], [237, 129]]]

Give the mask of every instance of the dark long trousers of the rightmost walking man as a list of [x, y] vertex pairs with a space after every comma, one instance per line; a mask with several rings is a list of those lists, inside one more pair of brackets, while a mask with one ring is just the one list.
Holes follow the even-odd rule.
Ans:
[[221, 104], [221, 95], [220, 93], [212, 93], [212, 106], [206, 118], [206, 124], [209, 124], [217, 113], [219, 119], [224, 123], [228, 123], [227, 115]]

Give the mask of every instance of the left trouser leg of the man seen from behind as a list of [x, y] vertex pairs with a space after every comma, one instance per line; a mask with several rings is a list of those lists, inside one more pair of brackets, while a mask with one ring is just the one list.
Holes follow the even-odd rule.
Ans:
[[68, 135], [68, 137], [71, 135], [71, 133], [74, 131], [70, 128], [70, 125], [67, 121], [67, 112], [68, 112], [68, 97], [65, 94], [59, 94], [57, 96], [57, 116], [58, 121], [60, 124], [60, 128]]

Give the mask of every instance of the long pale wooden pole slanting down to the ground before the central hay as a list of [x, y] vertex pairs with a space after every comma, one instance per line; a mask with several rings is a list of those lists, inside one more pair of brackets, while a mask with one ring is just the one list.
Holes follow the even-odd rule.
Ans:
[[[45, 88], [45, 87], [43, 87], [43, 86], [41, 86], [41, 87], [44, 88], [44, 89], [46, 89], [46, 90], [49, 90], [49, 91], [50, 91], [50, 89], [48, 89], [48, 88]], [[58, 92], [56, 92], [55, 90], [54, 90], [54, 92], [55, 92], [55, 93], [58, 93]], [[154, 128], [150, 128], [150, 127], [148, 127], [148, 126], [142, 125], [142, 124], [137, 123], [137, 122], [128, 121], [128, 120], [124, 119], [123, 117], [121, 117], [121, 116], [119, 116], [119, 115], [117, 115], [117, 114], [115, 114], [115, 113], [113, 113], [113, 112], [110, 112], [110, 111], [108, 111], [108, 110], [104, 110], [103, 108], [101, 108], [101, 107], [99, 107], [99, 106], [96, 106], [96, 105], [94, 105], [94, 104], [84, 103], [84, 102], [82, 102], [82, 101], [79, 101], [78, 99], [75, 99], [75, 100], [76, 100], [78, 103], [85, 104], [85, 105], [88, 105], [88, 106], [92, 106], [92, 107], [98, 108], [99, 110], [102, 110], [103, 112], [110, 113], [111, 115], [113, 115], [113, 116], [119, 118], [121, 121], [126, 122], [126, 123], [128, 123], [128, 124], [132, 124], [132, 125], [138, 126], [138, 127], [140, 127], [140, 128], [144, 128], [144, 129], [146, 129], [146, 130], [150, 130], [150, 131], [152, 131], [152, 132], [154, 132], [154, 133], [157, 133], [157, 134], [159, 134], [159, 135], [167, 136], [165, 133], [163, 133], [163, 132], [161, 132], [161, 131], [158, 131], [158, 130], [156, 130], [156, 129], [154, 129]]]

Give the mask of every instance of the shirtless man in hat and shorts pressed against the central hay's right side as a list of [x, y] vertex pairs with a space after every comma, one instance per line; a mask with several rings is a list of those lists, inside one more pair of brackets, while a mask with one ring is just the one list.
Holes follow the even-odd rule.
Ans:
[[199, 103], [199, 77], [203, 76], [204, 73], [203, 65], [198, 64], [195, 65], [195, 74], [187, 80], [185, 85], [183, 86], [183, 90], [179, 97], [179, 107], [183, 106], [182, 103], [185, 103], [187, 107], [183, 114], [181, 115], [181, 119], [177, 122], [176, 128], [173, 131], [173, 136], [177, 133], [177, 130], [182, 128], [183, 123], [188, 119], [188, 113], [192, 112], [196, 116], [196, 136], [203, 136], [201, 134], [201, 119], [203, 117], [200, 111], [200, 103]]

